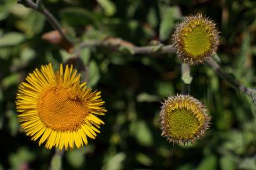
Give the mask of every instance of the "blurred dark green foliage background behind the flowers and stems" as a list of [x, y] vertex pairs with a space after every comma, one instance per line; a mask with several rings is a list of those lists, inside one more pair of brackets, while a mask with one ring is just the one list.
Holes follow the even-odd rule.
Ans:
[[[69, 37], [120, 37], [138, 46], [172, 43], [183, 16], [202, 14], [221, 32], [218, 50], [224, 71], [246, 86], [256, 82], [256, 1], [253, 0], [45, 0]], [[102, 91], [108, 110], [96, 140], [68, 151], [62, 169], [256, 169], [256, 106], [230, 88], [207, 65], [194, 66], [190, 94], [212, 116], [206, 136], [188, 145], [161, 137], [161, 102], [181, 93], [181, 63], [175, 54], [129, 55], [107, 48], [83, 48], [81, 57], [42, 40], [52, 31], [37, 11], [0, 0], [0, 169], [49, 169], [54, 150], [38, 147], [17, 120], [18, 84], [40, 65], [75, 61], [89, 67], [89, 86]], [[83, 68], [82, 67], [82, 68]], [[83, 69], [79, 69], [84, 78]]]

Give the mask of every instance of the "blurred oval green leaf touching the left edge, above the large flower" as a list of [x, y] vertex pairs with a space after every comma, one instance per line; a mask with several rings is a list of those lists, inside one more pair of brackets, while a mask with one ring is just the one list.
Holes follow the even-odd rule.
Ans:
[[25, 40], [25, 36], [18, 32], [9, 32], [0, 37], [0, 47], [14, 46]]

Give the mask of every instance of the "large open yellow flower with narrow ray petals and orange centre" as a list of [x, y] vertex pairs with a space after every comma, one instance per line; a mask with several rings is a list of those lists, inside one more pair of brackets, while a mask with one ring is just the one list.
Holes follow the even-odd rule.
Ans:
[[104, 101], [100, 92], [92, 92], [86, 83], [80, 84], [80, 74], [73, 65], [62, 64], [59, 71], [52, 64], [35, 69], [18, 88], [16, 108], [18, 120], [32, 140], [45, 142], [47, 149], [69, 149], [88, 144], [95, 139], [98, 128], [104, 124], [96, 115], [104, 115]]

